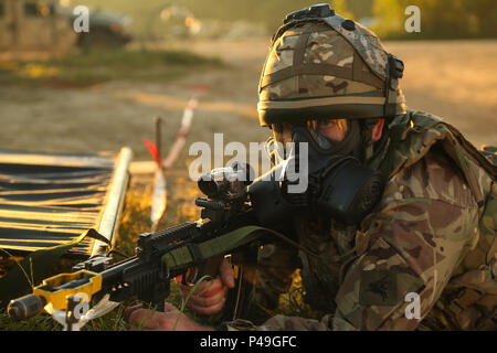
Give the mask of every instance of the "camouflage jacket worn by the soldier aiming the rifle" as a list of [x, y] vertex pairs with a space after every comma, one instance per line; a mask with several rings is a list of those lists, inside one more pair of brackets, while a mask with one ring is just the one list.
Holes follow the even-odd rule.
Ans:
[[[257, 330], [497, 329], [495, 168], [434, 116], [395, 120], [390, 148], [371, 161], [388, 171], [377, 211], [358, 227], [298, 222], [315, 254], [298, 254], [307, 301], [327, 314], [278, 314]], [[273, 295], [288, 288], [276, 272], [295, 256], [277, 254], [279, 267], [258, 271], [260, 287], [283, 284]]]

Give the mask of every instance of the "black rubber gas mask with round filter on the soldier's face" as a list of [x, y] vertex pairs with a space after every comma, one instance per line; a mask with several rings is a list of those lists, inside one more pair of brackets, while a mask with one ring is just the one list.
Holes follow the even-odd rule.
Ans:
[[[276, 157], [275, 165], [248, 186], [262, 224], [287, 222], [292, 215], [320, 214], [351, 225], [372, 212], [383, 192], [382, 178], [360, 162], [360, 127], [357, 120], [348, 121], [340, 141], [327, 138], [319, 121], [294, 126], [292, 143], [286, 148], [282, 139], [276, 140], [278, 131], [274, 133], [269, 150]], [[298, 184], [306, 188], [294, 188]]]

